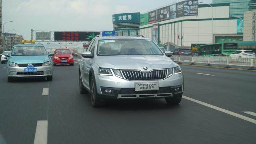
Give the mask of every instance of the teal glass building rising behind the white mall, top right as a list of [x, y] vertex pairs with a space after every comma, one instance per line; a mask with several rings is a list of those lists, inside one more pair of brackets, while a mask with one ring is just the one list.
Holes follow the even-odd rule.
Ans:
[[248, 10], [256, 10], [256, 0], [212, 0], [212, 3], [230, 3], [230, 17], [243, 17], [244, 12], [247, 12]]

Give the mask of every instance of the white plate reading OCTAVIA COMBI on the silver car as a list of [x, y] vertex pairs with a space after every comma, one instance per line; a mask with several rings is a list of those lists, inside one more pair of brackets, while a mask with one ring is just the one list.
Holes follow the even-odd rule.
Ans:
[[135, 82], [135, 91], [159, 90], [158, 82]]

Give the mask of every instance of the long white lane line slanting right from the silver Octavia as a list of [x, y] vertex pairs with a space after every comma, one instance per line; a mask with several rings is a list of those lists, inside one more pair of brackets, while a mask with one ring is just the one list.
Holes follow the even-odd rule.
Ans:
[[254, 119], [252, 119], [252, 118], [248, 118], [248, 117], [243, 116], [243, 115], [241, 115], [241, 114], [237, 114], [237, 113], [235, 113], [235, 112], [231, 112], [231, 111], [229, 111], [229, 110], [225, 110], [225, 109], [223, 109], [223, 108], [219, 108], [219, 107], [217, 107], [217, 106], [213, 106], [213, 105], [211, 105], [211, 104], [207, 104], [207, 103], [205, 103], [205, 102], [201, 102], [201, 101], [199, 101], [199, 100], [195, 100], [195, 99], [193, 99], [193, 98], [189, 98], [189, 97], [187, 97], [187, 96], [182, 96], [182, 98], [184, 98], [184, 99], [186, 99], [186, 100], [190, 100], [190, 101], [192, 101], [192, 102], [196, 102], [196, 103], [198, 103], [198, 104], [202, 104], [203, 106], [207, 106], [207, 107], [209, 107], [209, 108], [213, 108], [214, 110], [218, 110], [218, 111], [220, 111], [220, 112], [224, 112], [224, 113], [226, 113], [226, 114], [230, 114], [231, 116], [235, 116], [235, 117], [237, 117], [237, 118], [241, 118], [242, 120], [246, 120], [246, 121], [248, 121], [248, 122], [252, 122], [252, 123], [256, 124], [256, 120], [254, 120]]

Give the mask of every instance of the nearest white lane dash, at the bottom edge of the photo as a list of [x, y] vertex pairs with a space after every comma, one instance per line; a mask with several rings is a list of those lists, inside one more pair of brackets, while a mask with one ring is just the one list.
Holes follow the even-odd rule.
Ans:
[[48, 120], [38, 120], [34, 144], [47, 144]]

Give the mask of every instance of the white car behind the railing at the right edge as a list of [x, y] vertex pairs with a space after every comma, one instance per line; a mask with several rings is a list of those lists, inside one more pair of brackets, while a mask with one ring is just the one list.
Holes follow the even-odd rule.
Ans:
[[255, 58], [255, 53], [252, 50], [236, 50], [229, 56], [231, 59], [237, 58]]

